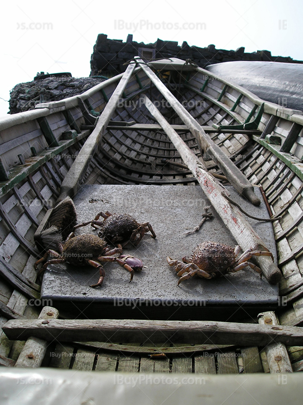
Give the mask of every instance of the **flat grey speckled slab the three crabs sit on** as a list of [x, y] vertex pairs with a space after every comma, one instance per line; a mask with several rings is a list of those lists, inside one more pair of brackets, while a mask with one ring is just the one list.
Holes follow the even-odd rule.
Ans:
[[[229, 187], [231, 197], [251, 215], [268, 217], [265, 204], [254, 207]], [[263, 201], [261, 192], [256, 194]], [[199, 306], [199, 311], [207, 311], [210, 306], [228, 308], [229, 306], [256, 305], [272, 308], [278, 304], [278, 287], [247, 267], [243, 271], [218, 279], [193, 277], [178, 287], [179, 277], [174, 267], [169, 267], [166, 256], [181, 260], [191, 255], [192, 250], [202, 241], [215, 241], [235, 246], [236, 241], [224, 225], [220, 216], [211, 207], [214, 215], [207, 220], [199, 232], [185, 236], [202, 219], [204, 207], [209, 205], [199, 186], [142, 186], [142, 185], [87, 185], [77, 193], [74, 203], [78, 223], [89, 221], [100, 211], [127, 213], [138, 222], [150, 222], [157, 237], [150, 233], [137, 247], [128, 244], [123, 253], [140, 258], [144, 263], [142, 272], [135, 272], [129, 283], [129, 273], [117, 263], [106, 263], [106, 276], [101, 288], [91, 288], [96, 284], [99, 272], [91, 266], [71, 266], [69, 264], [50, 265], [42, 283], [42, 299], [60, 302], [107, 303], [119, 306], [128, 302], [144, 300], [154, 304], [155, 317], [163, 306]], [[248, 219], [263, 238], [276, 257], [274, 234], [271, 223]], [[79, 228], [76, 234], [95, 233], [92, 227]], [[120, 303], [120, 304], [119, 304]], [[151, 304], [151, 305], [153, 305]], [[117, 311], [119, 308], [117, 308]], [[101, 314], [100, 314], [101, 316]], [[104, 317], [104, 316], [103, 316]]]

